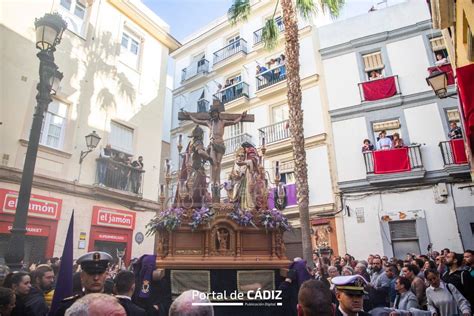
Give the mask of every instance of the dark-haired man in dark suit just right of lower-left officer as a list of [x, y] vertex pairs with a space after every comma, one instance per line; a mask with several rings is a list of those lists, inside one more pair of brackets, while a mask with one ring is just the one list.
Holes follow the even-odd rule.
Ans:
[[115, 297], [125, 308], [128, 316], [145, 316], [145, 310], [132, 302], [135, 291], [135, 275], [130, 271], [120, 271], [115, 276]]

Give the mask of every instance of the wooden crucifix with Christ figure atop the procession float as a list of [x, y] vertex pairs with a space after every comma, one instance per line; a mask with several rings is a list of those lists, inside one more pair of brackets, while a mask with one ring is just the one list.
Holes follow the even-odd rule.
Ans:
[[223, 105], [221, 101], [214, 99], [209, 113], [189, 113], [181, 111], [178, 113], [178, 120], [193, 121], [196, 124], [207, 126], [209, 133], [209, 155], [211, 157], [211, 188], [213, 202], [220, 200], [220, 174], [221, 161], [225, 154], [224, 144], [224, 129], [226, 126], [238, 124], [240, 122], [254, 122], [253, 114], [247, 114], [247, 111], [242, 114], [221, 113]]

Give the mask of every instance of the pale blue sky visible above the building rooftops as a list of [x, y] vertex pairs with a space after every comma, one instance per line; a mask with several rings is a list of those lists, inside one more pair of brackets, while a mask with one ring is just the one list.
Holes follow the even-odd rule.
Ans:
[[[209, 22], [227, 13], [232, 0], [142, 0], [171, 27], [171, 34], [179, 41]], [[366, 13], [382, 0], [346, 0], [341, 19]], [[388, 4], [402, 0], [387, 0]], [[381, 5], [384, 7], [385, 4]]]

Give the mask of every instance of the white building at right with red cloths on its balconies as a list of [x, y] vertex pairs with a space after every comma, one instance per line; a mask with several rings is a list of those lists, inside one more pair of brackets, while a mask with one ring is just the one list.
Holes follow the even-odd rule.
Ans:
[[[450, 122], [460, 124], [457, 100], [437, 98], [426, 82], [442, 69], [455, 91], [427, 4], [408, 0], [324, 26], [319, 37], [347, 252], [472, 249], [470, 167], [463, 140], [448, 137]], [[404, 146], [385, 148], [382, 131]], [[366, 139], [374, 150], [361, 149]]]

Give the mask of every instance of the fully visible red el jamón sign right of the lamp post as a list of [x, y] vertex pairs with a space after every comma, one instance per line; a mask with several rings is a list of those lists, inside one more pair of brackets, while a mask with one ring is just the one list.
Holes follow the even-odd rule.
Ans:
[[135, 213], [94, 206], [92, 225], [133, 230], [135, 228]]

